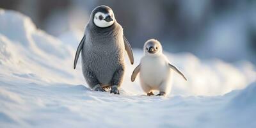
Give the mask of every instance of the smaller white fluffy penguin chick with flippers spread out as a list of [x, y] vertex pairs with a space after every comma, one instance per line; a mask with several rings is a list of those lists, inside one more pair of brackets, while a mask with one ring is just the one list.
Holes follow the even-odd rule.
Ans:
[[131, 81], [133, 82], [140, 72], [141, 88], [148, 96], [154, 95], [152, 90], [159, 90], [157, 96], [165, 96], [170, 93], [172, 70], [187, 80], [175, 66], [169, 63], [163, 54], [163, 48], [159, 41], [148, 40], [144, 44], [143, 51], [145, 56], [141, 58], [140, 65], [132, 72]]

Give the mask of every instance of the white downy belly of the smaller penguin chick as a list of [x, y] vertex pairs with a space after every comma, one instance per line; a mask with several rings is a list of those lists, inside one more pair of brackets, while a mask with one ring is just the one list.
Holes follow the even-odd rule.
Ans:
[[158, 89], [170, 74], [170, 69], [161, 58], [143, 58], [141, 60], [140, 79], [152, 89]]

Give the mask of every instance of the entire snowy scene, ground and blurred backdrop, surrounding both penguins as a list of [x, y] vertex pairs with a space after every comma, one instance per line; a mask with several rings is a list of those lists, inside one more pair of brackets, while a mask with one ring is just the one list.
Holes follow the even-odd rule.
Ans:
[[[95, 6], [113, 8], [134, 50], [120, 95], [72, 68]], [[256, 127], [256, 1], [0, 1], [0, 127]], [[13, 11], [16, 10], [16, 11]], [[131, 82], [148, 38], [173, 74], [168, 97]], [[138, 48], [138, 49], [136, 49]], [[115, 106], [115, 107], [113, 107]]]

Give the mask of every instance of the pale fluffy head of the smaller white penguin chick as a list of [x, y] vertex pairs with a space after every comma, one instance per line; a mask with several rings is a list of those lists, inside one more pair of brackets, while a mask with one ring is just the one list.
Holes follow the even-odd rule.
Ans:
[[144, 44], [144, 53], [150, 56], [162, 54], [163, 48], [158, 40], [150, 39]]

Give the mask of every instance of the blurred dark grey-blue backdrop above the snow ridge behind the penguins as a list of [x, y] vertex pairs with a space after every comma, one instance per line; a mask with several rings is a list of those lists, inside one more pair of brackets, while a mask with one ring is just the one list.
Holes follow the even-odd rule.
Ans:
[[113, 8], [132, 47], [141, 49], [148, 38], [157, 38], [168, 52], [256, 61], [256, 1], [252, 0], [2, 0], [0, 8], [24, 13], [38, 28], [65, 38], [82, 35], [90, 12], [101, 4]]

